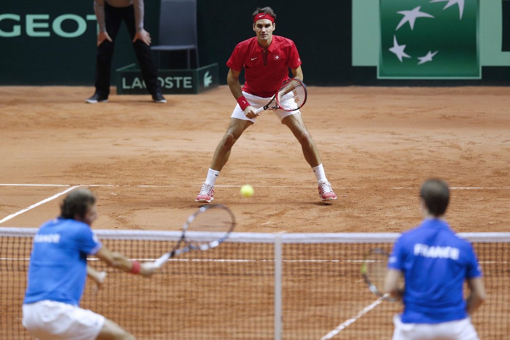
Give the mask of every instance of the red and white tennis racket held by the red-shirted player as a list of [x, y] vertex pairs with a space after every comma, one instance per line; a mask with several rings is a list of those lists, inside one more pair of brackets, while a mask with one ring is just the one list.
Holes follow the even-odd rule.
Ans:
[[299, 79], [291, 78], [283, 82], [271, 100], [264, 107], [255, 110], [255, 113], [268, 109], [296, 111], [302, 108], [306, 101], [307, 87]]

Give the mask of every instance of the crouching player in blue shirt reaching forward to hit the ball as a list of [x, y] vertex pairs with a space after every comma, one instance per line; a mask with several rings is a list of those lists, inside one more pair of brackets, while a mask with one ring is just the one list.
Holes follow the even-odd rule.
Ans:
[[44, 223], [34, 237], [22, 323], [39, 340], [135, 339], [113, 321], [79, 307], [86, 276], [98, 285], [104, 279], [87, 265], [87, 255], [134, 274], [150, 276], [156, 270], [102, 246], [90, 228], [96, 218], [96, 198], [78, 189], [64, 199], [60, 217]]

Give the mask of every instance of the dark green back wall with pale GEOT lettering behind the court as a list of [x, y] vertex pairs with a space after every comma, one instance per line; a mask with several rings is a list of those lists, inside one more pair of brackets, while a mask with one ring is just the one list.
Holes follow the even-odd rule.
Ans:
[[[251, 12], [258, 6], [269, 5], [277, 14], [275, 34], [291, 38], [296, 43], [308, 85], [415, 84], [416, 80], [377, 79], [380, 1], [384, 0], [323, 3], [308, 0], [273, 0], [271, 3], [197, 0], [200, 65], [218, 63], [220, 84], [226, 84], [228, 70], [225, 62], [238, 42], [254, 35]], [[469, 1], [473, 0], [466, 0]], [[510, 58], [508, 52], [502, 53], [501, 49], [502, 37], [510, 39], [510, 34], [502, 33], [502, 28], [510, 27], [504, 21], [510, 20], [508, 15], [505, 19], [501, 14], [502, 6], [508, 1], [479, 1], [478, 47], [482, 79], [455, 81], [454, 84], [510, 84]], [[418, 2], [428, 4], [428, 0], [413, 0], [413, 3]], [[159, 4], [160, 0], [145, 0], [145, 28], [154, 43], [158, 42]], [[431, 5], [441, 9], [446, 2]], [[400, 30], [403, 32], [404, 29], [405, 26]], [[2, 0], [0, 85], [92, 86], [95, 40], [92, 0]], [[122, 28], [116, 42], [112, 73], [116, 68], [132, 63], [136, 63], [136, 58], [127, 30]], [[162, 65], [183, 68], [184, 63], [184, 55], [176, 53], [169, 61], [163, 60]], [[112, 76], [114, 84], [115, 77]]]

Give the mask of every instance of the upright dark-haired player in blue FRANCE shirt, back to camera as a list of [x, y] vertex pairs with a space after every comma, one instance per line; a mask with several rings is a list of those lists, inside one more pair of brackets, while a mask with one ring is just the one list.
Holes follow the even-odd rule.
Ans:
[[[485, 299], [481, 271], [471, 244], [455, 235], [444, 214], [448, 185], [429, 179], [420, 190], [424, 221], [395, 242], [388, 261], [385, 291], [403, 299], [393, 319], [393, 340], [475, 340], [470, 315]], [[399, 290], [403, 275], [405, 289]], [[467, 280], [470, 295], [464, 300]]]

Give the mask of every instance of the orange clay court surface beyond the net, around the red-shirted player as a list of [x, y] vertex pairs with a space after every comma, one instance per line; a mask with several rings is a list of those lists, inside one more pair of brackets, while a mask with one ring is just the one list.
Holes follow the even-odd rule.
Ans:
[[[418, 188], [429, 177], [452, 188], [447, 216], [456, 231], [508, 231], [507, 88], [308, 91], [303, 120], [338, 199], [320, 201], [299, 144], [266, 111], [216, 182], [214, 203], [236, 214], [236, 231], [400, 232], [421, 221]], [[95, 229], [178, 230], [199, 206], [235, 105], [230, 90], [168, 95], [166, 104], [148, 94], [85, 104], [90, 92], [0, 88], [0, 226], [38, 227], [57, 216], [61, 197], [41, 201], [83, 186], [98, 196]], [[253, 197], [241, 197], [243, 184]]]

